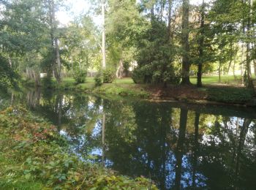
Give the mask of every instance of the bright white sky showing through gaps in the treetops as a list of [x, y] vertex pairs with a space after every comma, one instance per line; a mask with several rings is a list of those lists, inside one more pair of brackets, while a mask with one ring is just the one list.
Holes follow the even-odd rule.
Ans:
[[[190, 4], [201, 4], [203, 0], [190, 0]], [[205, 0], [210, 1], [210, 0]], [[75, 17], [78, 17], [81, 14], [85, 14], [89, 12], [90, 4], [88, 0], [66, 0], [66, 6], [70, 7], [70, 9], [65, 10], [61, 9], [57, 13], [57, 18], [61, 25], [67, 25], [70, 21], [74, 20]], [[101, 18], [95, 17], [94, 23], [98, 26], [102, 23]]]

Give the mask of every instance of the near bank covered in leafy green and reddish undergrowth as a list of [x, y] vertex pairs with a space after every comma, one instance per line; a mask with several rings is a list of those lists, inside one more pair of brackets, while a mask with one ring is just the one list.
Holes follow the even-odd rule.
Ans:
[[0, 112], [0, 189], [157, 189], [68, 153], [56, 126], [22, 107]]

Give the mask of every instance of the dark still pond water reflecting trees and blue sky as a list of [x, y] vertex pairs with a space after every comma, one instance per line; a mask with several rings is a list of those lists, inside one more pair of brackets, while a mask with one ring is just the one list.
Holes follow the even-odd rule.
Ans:
[[[0, 98], [1, 99], [1, 98]], [[256, 111], [53, 91], [6, 96], [54, 123], [70, 151], [159, 189], [255, 189]]]

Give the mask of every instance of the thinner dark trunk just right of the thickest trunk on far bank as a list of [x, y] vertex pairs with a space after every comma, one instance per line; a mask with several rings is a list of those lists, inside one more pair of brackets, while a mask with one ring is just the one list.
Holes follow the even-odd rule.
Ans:
[[204, 25], [205, 25], [205, 1], [201, 7], [200, 39], [199, 39], [199, 63], [197, 66], [197, 87], [202, 87], [202, 69], [203, 69], [203, 46], [204, 46]]

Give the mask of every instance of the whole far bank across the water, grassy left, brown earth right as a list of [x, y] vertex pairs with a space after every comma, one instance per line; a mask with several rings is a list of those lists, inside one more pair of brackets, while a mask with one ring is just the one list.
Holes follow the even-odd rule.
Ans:
[[[209, 81], [207, 79], [206, 81]], [[33, 83], [30, 83], [33, 86]], [[51, 88], [61, 91], [79, 91], [84, 93], [101, 94], [105, 96], [129, 96], [153, 101], [181, 101], [193, 103], [214, 104], [240, 104], [255, 106], [254, 94], [242, 86], [227, 85], [224, 83], [208, 83], [203, 88], [192, 86], [161, 86], [135, 84], [132, 79], [124, 78], [113, 83], [102, 84], [95, 87], [93, 78], [88, 78], [86, 83], [76, 84], [72, 78], [64, 78], [61, 85], [53, 81], [43, 88]]]

